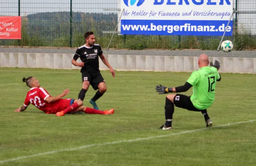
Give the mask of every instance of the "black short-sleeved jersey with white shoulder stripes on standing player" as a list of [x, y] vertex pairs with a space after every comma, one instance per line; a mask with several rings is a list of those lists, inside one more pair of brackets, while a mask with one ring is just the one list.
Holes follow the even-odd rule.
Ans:
[[76, 50], [76, 54], [73, 59], [77, 60], [79, 57], [84, 66], [81, 68], [81, 72], [93, 72], [99, 71], [99, 56], [102, 55], [102, 49], [99, 44], [94, 44], [92, 47], [81, 46]]

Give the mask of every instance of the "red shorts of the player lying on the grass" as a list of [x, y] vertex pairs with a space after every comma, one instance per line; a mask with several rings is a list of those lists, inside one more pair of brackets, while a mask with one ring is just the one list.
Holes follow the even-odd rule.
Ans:
[[74, 99], [60, 99], [51, 104], [50, 107], [43, 111], [47, 114], [56, 114], [57, 112], [63, 111], [74, 103]]

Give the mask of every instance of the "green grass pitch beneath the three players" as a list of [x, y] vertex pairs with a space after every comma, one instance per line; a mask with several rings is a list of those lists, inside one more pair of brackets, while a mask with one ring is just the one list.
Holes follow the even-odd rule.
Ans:
[[[113, 115], [74, 114], [56, 117], [24, 102], [29, 90], [23, 77], [37, 77], [51, 95], [69, 88], [66, 98], [77, 98], [79, 70], [0, 68], [0, 161], [54, 150], [112, 141], [156, 137], [203, 129], [199, 112], [175, 108], [173, 130], [157, 129], [164, 121], [166, 95], [154, 87], [180, 86], [190, 73], [102, 71], [107, 92], [97, 101], [99, 109], [115, 108]], [[221, 74], [216, 99], [208, 109], [214, 126], [255, 120], [256, 77], [253, 74]], [[184, 94], [190, 95], [192, 89]], [[84, 106], [95, 91], [90, 87]], [[134, 142], [91, 146], [75, 151], [29, 157], [0, 166], [253, 166], [256, 165], [256, 122]]]

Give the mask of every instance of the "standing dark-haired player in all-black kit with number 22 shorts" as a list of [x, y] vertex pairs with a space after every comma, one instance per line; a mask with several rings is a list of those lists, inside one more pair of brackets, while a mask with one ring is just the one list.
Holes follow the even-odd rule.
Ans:
[[[94, 97], [90, 100], [90, 103], [93, 105], [94, 109], [99, 109], [96, 105], [96, 100], [98, 100], [102, 95], [106, 92], [107, 86], [105, 80], [103, 79], [100, 71], [99, 71], [99, 57], [102, 62], [108, 66], [110, 72], [113, 77], [115, 77], [115, 71], [108, 63], [108, 60], [102, 54], [102, 49], [99, 44], [95, 44], [95, 37], [92, 31], [88, 31], [84, 34], [85, 45], [79, 47], [76, 50], [76, 54], [72, 59], [72, 64], [74, 66], [81, 67], [82, 73], [82, 82], [83, 88], [81, 89], [78, 99], [84, 100], [85, 93], [87, 92], [89, 86], [91, 85], [94, 90], [99, 89]], [[76, 62], [76, 60], [80, 57], [81, 63]]]

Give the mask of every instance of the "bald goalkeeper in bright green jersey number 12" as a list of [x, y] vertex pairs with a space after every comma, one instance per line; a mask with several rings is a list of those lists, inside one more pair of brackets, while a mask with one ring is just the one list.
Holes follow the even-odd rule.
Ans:
[[209, 58], [206, 54], [201, 54], [198, 59], [199, 69], [192, 72], [185, 85], [179, 87], [167, 88], [162, 85], [156, 86], [158, 94], [186, 92], [193, 86], [193, 94], [186, 96], [183, 94], [168, 94], [166, 96], [165, 117], [166, 123], [160, 129], [172, 129], [172, 115], [174, 113], [174, 105], [189, 111], [201, 112], [204, 115], [204, 120], [207, 127], [212, 126], [207, 109], [212, 105], [215, 99], [216, 81], [221, 80], [221, 75], [218, 73], [220, 63], [215, 60], [209, 65]]

